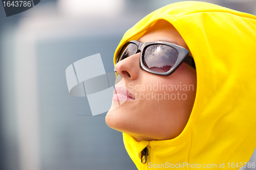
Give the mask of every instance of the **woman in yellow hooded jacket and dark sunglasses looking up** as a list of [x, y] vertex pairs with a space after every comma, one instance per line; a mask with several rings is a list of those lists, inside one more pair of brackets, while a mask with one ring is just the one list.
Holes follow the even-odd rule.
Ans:
[[253, 15], [180, 2], [124, 34], [106, 123], [138, 169], [245, 166], [256, 146], [255, 30]]

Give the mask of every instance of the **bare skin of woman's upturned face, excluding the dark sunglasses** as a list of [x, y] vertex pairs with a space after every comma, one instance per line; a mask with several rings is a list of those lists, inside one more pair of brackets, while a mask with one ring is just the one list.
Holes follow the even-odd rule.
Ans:
[[[166, 41], [188, 50], [178, 31], [164, 20], [157, 21], [138, 41]], [[140, 53], [119, 61], [115, 68], [122, 75], [116, 88], [125, 87], [135, 99], [127, 98], [118, 106], [120, 101], [113, 98], [106, 124], [137, 141], [177, 137], [194, 105], [196, 70], [183, 62], [170, 76], [154, 75], [140, 68]]]

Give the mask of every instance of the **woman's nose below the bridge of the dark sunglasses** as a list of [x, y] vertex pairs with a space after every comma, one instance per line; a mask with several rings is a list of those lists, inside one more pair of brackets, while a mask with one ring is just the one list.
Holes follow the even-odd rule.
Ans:
[[127, 57], [115, 65], [115, 70], [123, 78], [136, 80], [142, 70], [140, 68], [140, 53]]

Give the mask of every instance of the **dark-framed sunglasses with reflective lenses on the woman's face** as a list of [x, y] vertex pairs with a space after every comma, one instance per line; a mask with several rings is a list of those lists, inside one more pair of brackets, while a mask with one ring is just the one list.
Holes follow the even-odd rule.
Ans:
[[[117, 57], [116, 64], [132, 55], [141, 52], [140, 67], [156, 75], [171, 75], [182, 62], [196, 69], [193, 57], [186, 48], [164, 41], [126, 42]], [[114, 69], [116, 72], [116, 69]]]

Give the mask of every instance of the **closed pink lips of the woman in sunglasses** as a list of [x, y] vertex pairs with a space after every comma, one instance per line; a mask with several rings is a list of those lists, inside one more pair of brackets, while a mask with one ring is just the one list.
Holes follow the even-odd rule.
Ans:
[[134, 96], [122, 86], [116, 86], [113, 94], [113, 100], [135, 100]]

